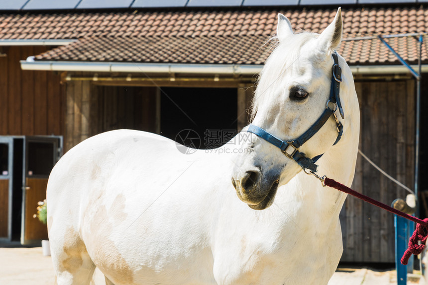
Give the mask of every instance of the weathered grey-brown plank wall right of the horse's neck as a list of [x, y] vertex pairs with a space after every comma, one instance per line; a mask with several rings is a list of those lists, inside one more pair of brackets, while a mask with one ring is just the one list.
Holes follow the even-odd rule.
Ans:
[[[356, 81], [359, 148], [388, 174], [413, 189], [415, 81]], [[408, 192], [358, 155], [353, 189], [387, 205]], [[394, 216], [348, 197], [340, 216], [342, 262], [394, 262]]]

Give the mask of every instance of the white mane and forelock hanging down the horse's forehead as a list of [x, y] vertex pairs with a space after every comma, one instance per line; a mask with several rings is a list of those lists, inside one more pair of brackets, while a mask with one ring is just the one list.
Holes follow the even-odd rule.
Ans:
[[269, 88], [275, 85], [275, 81], [301, 57], [302, 47], [314, 37], [318, 37], [318, 34], [303, 31], [294, 34], [293, 39], [287, 43], [280, 43], [278, 36], [272, 36], [262, 45], [262, 47], [268, 46], [273, 51], [257, 76], [257, 88], [254, 91], [249, 112], [250, 121], [253, 121], [259, 106], [264, 100], [273, 99], [271, 97], [275, 94], [274, 92], [268, 92]]

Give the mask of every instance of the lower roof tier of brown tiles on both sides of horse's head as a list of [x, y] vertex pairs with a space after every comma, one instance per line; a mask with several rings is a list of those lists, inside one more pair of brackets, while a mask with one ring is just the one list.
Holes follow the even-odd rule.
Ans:
[[[39, 61], [100, 61], [189, 64], [263, 64], [272, 51], [268, 36], [226, 37], [95, 37], [38, 55]], [[422, 60], [428, 61], [424, 37]], [[418, 61], [419, 44], [413, 37], [388, 43], [409, 62]], [[350, 65], [399, 64], [379, 39], [343, 41], [338, 50]]]

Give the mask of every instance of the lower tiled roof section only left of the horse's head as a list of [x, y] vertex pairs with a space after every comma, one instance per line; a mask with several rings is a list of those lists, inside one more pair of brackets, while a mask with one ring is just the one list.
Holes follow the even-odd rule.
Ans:
[[266, 36], [229, 37], [94, 37], [56, 48], [35, 60], [257, 64], [265, 62]]

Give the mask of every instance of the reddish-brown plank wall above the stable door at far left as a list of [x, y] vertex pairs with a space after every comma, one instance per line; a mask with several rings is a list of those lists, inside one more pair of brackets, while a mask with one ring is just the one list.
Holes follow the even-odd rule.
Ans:
[[22, 71], [19, 60], [40, 54], [43, 46], [2, 47], [0, 57], [0, 135], [62, 135], [60, 75]]

